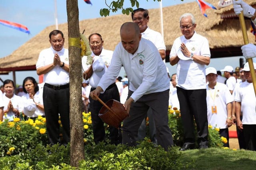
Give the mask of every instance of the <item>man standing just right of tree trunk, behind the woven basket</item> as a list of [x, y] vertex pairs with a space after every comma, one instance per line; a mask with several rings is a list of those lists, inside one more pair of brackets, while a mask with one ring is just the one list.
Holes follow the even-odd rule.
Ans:
[[[102, 75], [104, 75], [110, 65], [113, 51], [106, 50], [102, 47], [104, 41], [102, 40], [102, 36], [98, 33], [89, 36], [89, 44], [92, 49], [92, 56], [84, 56], [82, 58], [82, 69], [84, 71], [84, 79], [89, 79], [89, 84], [92, 86], [90, 91], [93, 91], [98, 86]], [[106, 91], [101, 93], [99, 97], [104, 103], [110, 99], [120, 101], [116, 83], [112, 83], [108, 86]], [[98, 116], [102, 104], [99, 101], [92, 100], [91, 97], [89, 97], [89, 100], [94, 142], [98, 144], [99, 142], [104, 141], [106, 137], [104, 122]], [[115, 127], [109, 127], [109, 131], [110, 143], [116, 145], [120, 144], [122, 142], [121, 129], [118, 130]]]

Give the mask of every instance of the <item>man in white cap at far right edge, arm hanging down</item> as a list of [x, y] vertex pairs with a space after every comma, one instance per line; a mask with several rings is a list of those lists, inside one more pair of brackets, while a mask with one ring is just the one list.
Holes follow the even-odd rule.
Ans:
[[[253, 63], [256, 72], [256, 63]], [[256, 150], [256, 97], [252, 84], [249, 63], [244, 65], [244, 76], [246, 81], [240, 83], [235, 94], [236, 102], [236, 123], [240, 130], [244, 132], [245, 147], [248, 150]], [[253, 94], [253, 95], [252, 95]], [[243, 113], [242, 120], [240, 114]]]

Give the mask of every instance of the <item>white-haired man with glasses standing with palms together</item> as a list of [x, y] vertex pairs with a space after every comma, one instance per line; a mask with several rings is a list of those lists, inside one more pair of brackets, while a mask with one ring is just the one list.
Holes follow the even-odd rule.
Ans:
[[180, 17], [183, 36], [174, 40], [170, 64], [177, 64], [177, 95], [184, 126], [184, 145], [180, 150], [195, 147], [194, 119], [199, 148], [208, 148], [205, 65], [210, 63], [208, 40], [195, 32], [196, 20], [190, 13]]

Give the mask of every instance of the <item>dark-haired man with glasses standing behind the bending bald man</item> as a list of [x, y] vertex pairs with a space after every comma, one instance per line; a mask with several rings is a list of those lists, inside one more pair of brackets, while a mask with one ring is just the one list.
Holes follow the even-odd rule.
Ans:
[[[147, 40], [150, 40], [156, 48], [158, 49], [162, 60], [165, 61], [165, 50], [166, 46], [164, 44], [164, 38], [159, 32], [156, 32], [154, 30], [151, 30], [148, 27], [149, 22], [149, 16], [148, 16], [148, 10], [143, 8], [138, 8], [132, 12], [132, 22], [138, 24], [140, 28], [140, 34], [142, 38], [145, 38]], [[148, 117], [149, 121], [149, 132], [150, 132], [150, 139], [152, 142], [157, 144], [156, 140], [156, 127], [154, 123], [154, 118], [152, 116], [152, 109], [150, 108], [148, 110], [148, 114], [146, 115]], [[138, 140], [143, 140], [146, 137], [146, 118], [142, 122], [139, 130], [138, 130]]]

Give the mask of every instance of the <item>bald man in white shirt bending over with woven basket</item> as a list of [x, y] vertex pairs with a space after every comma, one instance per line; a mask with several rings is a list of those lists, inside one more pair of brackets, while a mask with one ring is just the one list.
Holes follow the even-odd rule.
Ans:
[[130, 80], [128, 99], [124, 103], [130, 117], [124, 119], [122, 143], [136, 145], [138, 128], [151, 107], [158, 144], [168, 150], [173, 145], [173, 139], [168, 127], [170, 84], [166, 66], [155, 45], [141, 38], [140, 28], [136, 23], [124, 23], [120, 28], [120, 36], [121, 42], [114, 50], [111, 65], [90, 96], [96, 99], [94, 95], [99, 96], [114, 83], [123, 65]]

